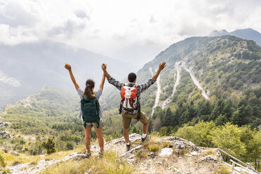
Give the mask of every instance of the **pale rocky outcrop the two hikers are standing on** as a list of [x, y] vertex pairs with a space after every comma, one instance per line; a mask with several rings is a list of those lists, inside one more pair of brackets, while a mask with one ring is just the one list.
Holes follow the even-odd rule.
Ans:
[[[215, 168], [224, 164], [218, 149], [196, 147], [194, 143], [177, 137], [166, 137], [154, 140], [147, 138], [141, 142], [141, 136], [130, 135], [131, 150], [126, 150], [124, 138], [105, 143], [105, 151], [114, 151], [119, 158], [126, 160], [138, 173], [215, 173]], [[98, 145], [91, 146], [92, 156], [98, 155]], [[210, 153], [210, 154], [209, 154]], [[36, 164], [22, 163], [11, 166], [11, 173], [40, 173], [49, 166], [68, 160], [82, 160], [86, 154], [72, 153], [63, 159], [41, 160]]]

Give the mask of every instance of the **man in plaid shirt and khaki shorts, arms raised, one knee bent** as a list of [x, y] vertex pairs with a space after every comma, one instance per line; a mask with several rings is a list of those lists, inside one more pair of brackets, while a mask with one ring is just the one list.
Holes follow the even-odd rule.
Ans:
[[[142, 142], [144, 142], [145, 138], [147, 137], [147, 131], [149, 128], [149, 118], [147, 117], [147, 115], [144, 112], [140, 112], [140, 95], [147, 88], [149, 88], [149, 86], [151, 86], [153, 83], [155, 83], [156, 79], [158, 78], [159, 74], [161, 73], [161, 70], [164, 69], [164, 67], [166, 67], [166, 62], [160, 63], [159, 69], [157, 70], [156, 74], [154, 74], [154, 76], [152, 76], [152, 79], [149, 79], [147, 81], [147, 83], [136, 85], [135, 84], [136, 83], [136, 74], [135, 73], [131, 72], [130, 74], [128, 74], [128, 82], [129, 82], [128, 84], [121, 83], [119, 81], [116, 81], [114, 78], [112, 78], [112, 76], [110, 76], [106, 70], [107, 65], [102, 64], [102, 70], [105, 73], [107, 80], [109, 81], [109, 83], [111, 83], [113, 86], [115, 86], [117, 89], [119, 89], [121, 91], [121, 98], [123, 98], [123, 96], [124, 96], [124, 94], [123, 94], [124, 92], [122, 91], [122, 88], [124, 86], [128, 86], [130, 88], [131, 87], [136, 88], [136, 90], [135, 89], [133, 90], [135, 92], [131, 92], [130, 94], [135, 93], [137, 101], [134, 101], [134, 102], [137, 103], [137, 107], [135, 107], [135, 109], [126, 109], [125, 107], [122, 107], [123, 100], [124, 100], [124, 98], [123, 98], [123, 100], [121, 101], [121, 108], [120, 108], [120, 113], [122, 116], [123, 136], [125, 138], [126, 147], [128, 150], [131, 148], [131, 142], [129, 141], [129, 136], [128, 136], [128, 128], [130, 128], [131, 119], [138, 119], [141, 123], [143, 123]], [[133, 103], [132, 103], [132, 105], [133, 105]]]

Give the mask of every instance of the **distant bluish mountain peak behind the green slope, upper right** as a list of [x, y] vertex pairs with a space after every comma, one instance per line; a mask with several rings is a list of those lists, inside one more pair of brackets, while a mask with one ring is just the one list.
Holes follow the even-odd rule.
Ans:
[[222, 29], [220, 31], [214, 30], [208, 36], [224, 36], [224, 35], [231, 35], [231, 36], [239, 37], [241, 39], [253, 40], [257, 45], [261, 46], [261, 33], [251, 28], [236, 29], [233, 32], [227, 32], [225, 29]]

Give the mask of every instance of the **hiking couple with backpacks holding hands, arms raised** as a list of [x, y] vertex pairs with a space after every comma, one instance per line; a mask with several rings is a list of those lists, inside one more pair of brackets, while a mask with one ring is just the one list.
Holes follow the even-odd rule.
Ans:
[[79, 84], [74, 79], [72, 74], [72, 67], [69, 64], [65, 64], [65, 68], [68, 69], [69, 75], [74, 83], [76, 91], [81, 98], [81, 112], [79, 117], [83, 120], [83, 128], [85, 133], [85, 145], [86, 154], [91, 155], [91, 128], [95, 128], [95, 132], [98, 138], [100, 153], [104, 150], [104, 140], [102, 137], [102, 107], [98, 100], [102, 95], [103, 86], [105, 83], [105, 77], [107, 81], [121, 91], [121, 105], [119, 112], [122, 116], [123, 135], [126, 141], [127, 150], [131, 148], [131, 142], [128, 136], [128, 128], [131, 125], [131, 119], [138, 119], [143, 124], [142, 128], [142, 142], [147, 138], [147, 131], [149, 128], [149, 118], [147, 114], [140, 111], [140, 95], [149, 86], [155, 83], [161, 70], [166, 67], [166, 62], [159, 64], [159, 69], [156, 71], [152, 79], [149, 79], [146, 83], [136, 85], [137, 76], [131, 72], [128, 74], [128, 83], [121, 83], [112, 78], [107, 72], [107, 65], [102, 64], [102, 81], [98, 91], [93, 91], [95, 87], [95, 81], [88, 79], [86, 81], [86, 87], [84, 91], [80, 88]]

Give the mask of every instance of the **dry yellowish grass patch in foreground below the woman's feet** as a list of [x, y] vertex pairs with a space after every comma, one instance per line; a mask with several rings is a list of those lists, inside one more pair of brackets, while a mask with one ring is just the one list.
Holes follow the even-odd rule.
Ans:
[[41, 174], [79, 174], [79, 173], [95, 173], [95, 174], [128, 174], [135, 170], [128, 165], [126, 161], [119, 158], [115, 152], [105, 152], [102, 158], [91, 156], [89, 159], [69, 160], [58, 163], [44, 170]]

